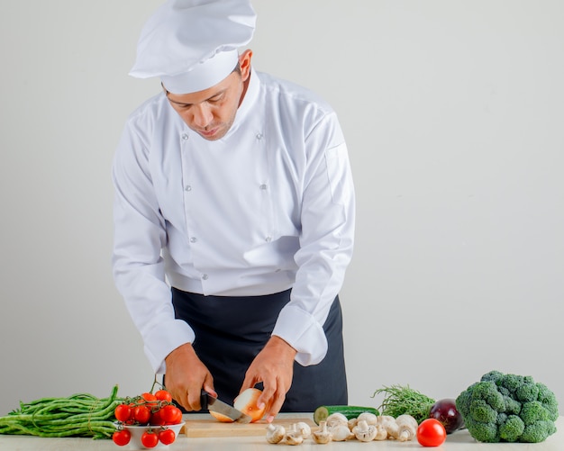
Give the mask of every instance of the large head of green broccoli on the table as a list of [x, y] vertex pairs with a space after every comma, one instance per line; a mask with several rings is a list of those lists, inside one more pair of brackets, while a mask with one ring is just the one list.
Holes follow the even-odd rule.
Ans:
[[480, 442], [546, 440], [556, 432], [554, 392], [531, 376], [490, 371], [456, 399], [456, 408], [472, 437]]

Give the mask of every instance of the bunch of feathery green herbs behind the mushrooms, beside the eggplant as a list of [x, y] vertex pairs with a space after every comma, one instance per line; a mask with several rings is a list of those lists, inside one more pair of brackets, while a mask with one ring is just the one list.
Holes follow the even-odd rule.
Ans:
[[390, 415], [397, 418], [400, 415], [411, 415], [421, 423], [423, 419], [429, 418], [429, 411], [435, 403], [431, 397], [417, 392], [409, 385], [391, 385], [378, 389], [372, 395], [384, 394], [384, 399], [378, 407], [382, 415]]

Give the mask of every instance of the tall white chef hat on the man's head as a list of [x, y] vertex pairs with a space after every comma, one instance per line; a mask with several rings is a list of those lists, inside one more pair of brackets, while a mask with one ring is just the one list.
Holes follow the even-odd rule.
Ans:
[[236, 67], [255, 23], [249, 0], [168, 0], [143, 27], [129, 75], [160, 77], [174, 94], [217, 85]]

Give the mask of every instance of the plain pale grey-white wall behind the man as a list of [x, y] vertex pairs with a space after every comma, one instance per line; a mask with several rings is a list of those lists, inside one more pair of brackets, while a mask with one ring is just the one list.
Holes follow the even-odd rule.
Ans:
[[[127, 76], [159, 0], [0, 4], [0, 414], [148, 390], [114, 289], [110, 165], [159, 90]], [[255, 67], [335, 107], [358, 192], [350, 403], [491, 369], [564, 405], [564, 4], [255, 0]]]

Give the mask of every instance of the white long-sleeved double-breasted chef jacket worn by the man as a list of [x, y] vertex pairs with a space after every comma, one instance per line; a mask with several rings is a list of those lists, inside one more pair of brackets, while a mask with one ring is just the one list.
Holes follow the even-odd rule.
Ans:
[[209, 141], [155, 95], [125, 124], [113, 181], [114, 280], [157, 374], [197, 339], [175, 319], [170, 285], [222, 296], [292, 288], [272, 334], [299, 364], [323, 360], [354, 236], [350, 162], [328, 104], [252, 69], [232, 128]]

